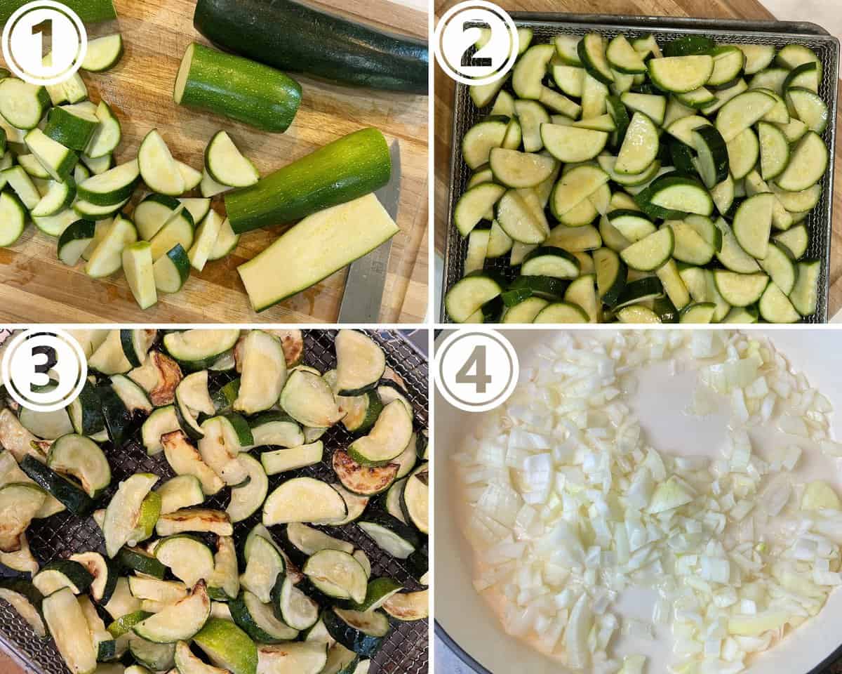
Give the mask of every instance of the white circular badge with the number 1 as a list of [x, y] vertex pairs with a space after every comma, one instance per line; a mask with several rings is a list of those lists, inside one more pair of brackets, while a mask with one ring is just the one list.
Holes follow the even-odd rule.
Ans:
[[[52, 40], [49, 52], [47, 35]], [[49, 87], [71, 78], [87, 54], [88, 33], [82, 19], [55, 0], [26, 3], [3, 28], [3, 58], [8, 69], [35, 86]]]

